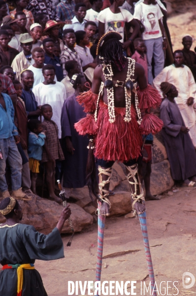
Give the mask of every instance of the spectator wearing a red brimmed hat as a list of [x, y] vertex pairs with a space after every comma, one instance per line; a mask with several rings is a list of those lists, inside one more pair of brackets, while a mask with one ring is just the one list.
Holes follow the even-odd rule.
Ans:
[[48, 36], [53, 39], [55, 44], [59, 44], [61, 51], [64, 49], [64, 43], [59, 36], [59, 30], [64, 26], [64, 23], [57, 23], [55, 21], [47, 21], [46, 27], [43, 30], [43, 36]]

